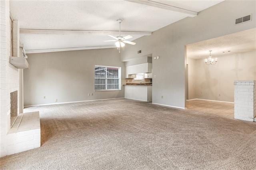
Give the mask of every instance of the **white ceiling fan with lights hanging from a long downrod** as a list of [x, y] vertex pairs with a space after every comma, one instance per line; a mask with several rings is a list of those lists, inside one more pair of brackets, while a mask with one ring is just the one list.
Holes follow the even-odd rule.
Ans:
[[128, 39], [132, 38], [132, 36], [130, 36], [130, 35], [125, 36], [125, 37], [121, 36], [121, 22], [122, 22], [122, 20], [119, 19], [119, 20], [116, 20], [116, 21], [119, 23], [119, 36], [115, 37], [115, 36], [108, 35], [108, 36], [114, 38], [115, 40], [107, 40], [107, 41], [104, 41], [104, 42], [116, 42], [115, 45], [116, 45], [116, 47], [119, 48], [119, 52], [120, 52], [120, 47], [124, 47], [125, 43], [131, 44], [131, 45], [135, 45], [136, 43], [127, 41]]

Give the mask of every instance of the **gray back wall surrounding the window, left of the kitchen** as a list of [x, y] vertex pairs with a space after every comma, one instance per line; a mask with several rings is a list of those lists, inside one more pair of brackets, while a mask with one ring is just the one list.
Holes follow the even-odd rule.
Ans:
[[[116, 48], [32, 53], [29, 69], [24, 69], [24, 105], [39, 105], [124, 97], [121, 91], [94, 92], [94, 65], [122, 67]], [[93, 93], [93, 96], [88, 96]], [[46, 96], [46, 99], [43, 97]]]

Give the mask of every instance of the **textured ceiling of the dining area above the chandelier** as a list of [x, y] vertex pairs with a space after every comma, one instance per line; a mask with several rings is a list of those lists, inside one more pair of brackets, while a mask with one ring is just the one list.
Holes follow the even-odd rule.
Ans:
[[[201, 59], [256, 50], [256, 28], [187, 45], [187, 57]], [[224, 53], [223, 53], [224, 51]], [[230, 52], [228, 52], [230, 51]]]

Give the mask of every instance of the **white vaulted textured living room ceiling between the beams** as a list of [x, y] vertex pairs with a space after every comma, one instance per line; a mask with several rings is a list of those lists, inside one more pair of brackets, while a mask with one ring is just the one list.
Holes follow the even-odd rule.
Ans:
[[[163, 2], [199, 12], [221, 1]], [[21, 29], [118, 30], [116, 20], [122, 18], [123, 31], [143, 32], [153, 32], [188, 16], [188, 14], [124, 0], [11, 0], [10, 13], [14, 20], [19, 20]], [[142, 35], [132, 36], [136, 39]], [[21, 34], [20, 38], [25, 49], [114, 45], [114, 42], [103, 42], [110, 40], [106, 35]]]

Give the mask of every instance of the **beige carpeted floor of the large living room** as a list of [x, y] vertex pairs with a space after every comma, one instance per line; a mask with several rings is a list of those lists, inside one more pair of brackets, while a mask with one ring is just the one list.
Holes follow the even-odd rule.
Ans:
[[128, 99], [26, 111], [40, 111], [42, 146], [0, 169], [256, 168], [256, 123]]

